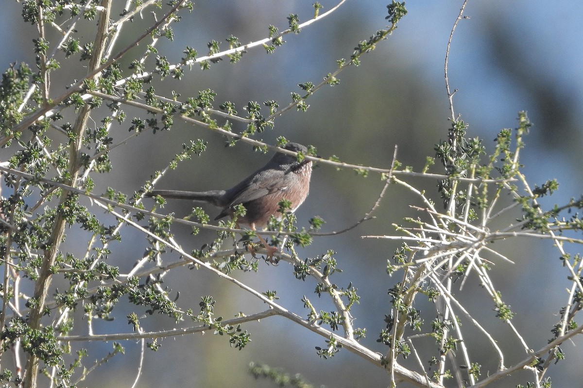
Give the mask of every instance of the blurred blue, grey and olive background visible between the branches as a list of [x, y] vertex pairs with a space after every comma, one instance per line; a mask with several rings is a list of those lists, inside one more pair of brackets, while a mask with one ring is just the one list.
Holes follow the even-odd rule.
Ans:
[[[321, 13], [336, 4], [333, 1], [320, 2], [324, 6]], [[123, 3], [116, 2], [114, 17], [121, 13]], [[235, 65], [222, 60], [210, 70], [202, 71], [198, 67], [186, 70], [180, 81], [170, 77], [160, 81], [159, 77], [154, 77], [153, 85], [157, 94], [168, 96], [171, 90], [175, 90], [181, 99], [195, 97], [199, 90], [210, 88], [217, 93], [215, 106], [232, 101], [241, 115], [248, 101], [262, 103], [275, 99], [283, 108], [291, 101], [290, 92], [301, 92], [297, 84], [306, 81], [319, 83], [336, 69], [336, 60], [349, 58], [359, 41], [367, 40], [375, 31], [385, 27], [387, 3], [348, 1], [300, 34], [286, 35], [286, 44], [271, 55], [261, 47], [254, 48]], [[290, 13], [297, 14], [300, 23], [313, 17], [311, 4], [312, 1], [293, 0], [197, 2], [192, 13], [182, 12], [182, 22], [173, 25], [174, 41], [163, 41], [157, 46], [159, 55], [166, 55], [170, 63], [178, 63], [188, 45], [202, 56], [206, 54], [210, 40], [223, 42], [221, 48], [226, 49], [225, 39], [230, 34], [243, 44], [257, 41], [266, 37], [269, 24], [279, 27], [280, 31], [285, 30], [286, 17]], [[338, 86], [322, 88], [310, 97], [307, 112], [287, 112], [276, 119], [275, 129], [267, 130], [257, 138], [274, 144], [276, 137], [285, 136], [291, 141], [314, 145], [324, 158], [336, 155], [345, 162], [380, 168], [389, 168], [394, 147], [398, 145], [398, 160], [420, 170], [425, 157], [434, 155], [434, 144], [447, 137], [450, 127], [444, 58], [449, 33], [461, 5], [462, 1], [450, 0], [407, 2], [408, 15], [399, 22], [398, 29], [373, 52], [362, 56], [361, 66], [340, 73]], [[23, 23], [21, 11], [20, 3], [6, 2], [3, 5], [0, 24], [5, 37], [0, 41], [2, 68], [12, 62], [27, 62], [34, 66], [31, 40], [37, 36], [36, 27]], [[551, 7], [548, 2], [539, 0], [470, 1], [465, 15], [469, 19], [459, 22], [452, 41], [449, 83], [452, 89], [458, 89], [454, 97], [455, 113], [469, 124], [468, 136], [483, 138], [491, 151], [498, 131], [516, 127], [517, 112], [527, 111], [535, 126], [525, 139], [521, 162], [531, 186], [540, 186], [547, 179], [559, 180], [559, 190], [550, 200], [543, 202], [549, 207], [555, 203], [564, 204], [571, 197], [579, 198], [582, 193], [583, 145], [580, 126], [583, 122], [583, 3], [557, 0]], [[125, 47], [150, 26], [152, 16], [145, 13], [143, 17], [143, 20], [136, 18], [132, 26], [126, 27], [118, 47]], [[93, 22], [81, 24], [78, 28], [80, 35], [92, 40], [93, 26]], [[48, 38], [50, 42], [58, 41], [57, 35]], [[144, 47], [136, 48], [136, 55], [140, 55]], [[127, 68], [131, 59], [126, 56], [122, 68]], [[72, 83], [73, 77], [83, 75], [66, 71], [66, 66], [71, 66], [71, 69], [79, 67], [76, 59], [64, 61], [62, 65], [64, 69], [55, 72], [52, 79], [51, 92], [55, 96]], [[124, 111], [128, 118], [141, 115], [141, 112], [126, 107]], [[267, 109], [265, 115], [268, 115]], [[99, 115], [95, 117], [99, 118]], [[127, 137], [129, 125], [128, 121], [114, 127], [114, 139], [120, 141]], [[241, 130], [243, 126], [235, 122], [234, 129]], [[114, 149], [111, 152], [114, 170], [107, 175], [94, 176], [95, 192], [101, 193], [109, 186], [131, 195], [155, 170], [168, 164], [181, 150], [182, 143], [196, 138], [208, 141], [208, 150], [199, 158], [181, 163], [164, 177], [159, 188], [229, 188], [271, 157], [254, 153], [243, 144], [225, 148], [223, 137], [175, 120], [171, 131], [153, 135], [152, 131], [146, 130], [124, 147]], [[11, 149], [0, 150], [0, 158], [6, 160], [12, 152]], [[414, 180], [412, 183], [429, 191], [437, 181]], [[364, 179], [352, 171], [318, 166], [312, 175], [310, 196], [297, 212], [298, 225], [307, 227], [308, 220], [319, 215], [326, 221], [323, 231], [344, 229], [363, 217], [381, 188], [382, 181], [378, 176]], [[438, 199], [437, 193], [430, 195]], [[353, 282], [358, 289], [361, 300], [353, 308], [354, 325], [367, 328], [363, 344], [380, 353], [387, 352], [386, 347], [376, 342], [378, 333], [385, 327], [384, 316], [389, 314], [387, 290], [401, 280], [401, 273], [390, 277], [385, 268], [398, 244], [387, 240], [364, 240], [361, 236], [394, 233], [392, 223], [401, 223], [404, 216], [415, 216], [408, 207], [411, 197], [402, 188], [391, 186], [376, 219], [340, 236], [315, 239], [310, 247], [299, 250], [303, 257], [315, 257], [328, 249], [336, 252], [338, 266], [344, 272], [336, 274], [332, 280], [342, 287]], [[181, 216], [187, 215], [191, 207], [190, 203], [173, 201], [164, 211]], [[212, 207], [207, 209], [212, 218], [218, 213]], [[508, 222], [517, 216], [512, 215]], [[76, 233], [85, 236], [80, 231], [70, 232], [71, 237]], [[212, 233], [192, 237], [187, 228], [179, 225], [173, 227], [173, 232], [187, 250], [199, 248], [213, 238]], [[146, 241], [141, 233], [129, 228], [122, 236], [124, 240], [113, 247], [114, 254], [109, 260], [110, 264], [127, 272], [143, 254]], [[69, 239], [73, 240], [71, 237]], [[85, 248], [85, 243], [83, 247], [75, 247], [72, 242], [69, 244], [72, 251]], [[500, 242], [495, 246], [515, 261], [515, 265], [496, 262], [491, 272], [495, 285], [515, 312], [513, 322], [526, 343], [534, 349], [543, 347], [552, 337], [550, 330], [559, 319], [560, 306], [566, 304], [564, 289], [569, 284], [568, 274], [560, 266], [559, 253], [552, 244], [538, 240]], [[577, 252], [577, 247], [573, 248], [574, 252]], [[300, 301], [304, 295], [318, 309], [330, 308], [326, 298], [318, 300], [313, 294], [314, 282], [296, 280], [289, 264], [267, 266], [261, 263], [259, 267], [258, 274], [236, 273], [235, 276], [258, 290], [277, 290], [280, 304], [297, 314], [307, 314]], [[461, 291], [456, 290], [456, 296], [465, 301], [476, 319], [496, 333], [498, 343], [508, 352], [505, 364], [518, 362], [525, 357], [524, 351], [507, 326], [495, 318], [490, 298], [478, 284], [472, 285], [477, 283], [475, 276], [470, 277], [473, 282], [468, 282]], [[166, 285], [180, 291], [178, 303], [182, 307], [197, 309], [201, 296], [212, 295], [217, 299], [217, 315], [225, 319], [240, 310], [252, 314], [265, 309], [248, 294], [202, 270], [184, 268], [175, 271], [166, 278]], [[536, 309], [532, 308], [533, 305]], [[120, 304], [117, 321], [120, 326], [110, 323], [103, 327], [96, 325], [96, 333], [100, 330], [131, 331], [125, 325], [125, 315], [127, 309], [132, 308], [129, 304]], [[436, 317], [430, 305], [420, 304], [417, 308], [424, 310], [426, 325]], [[141, 323], [146, 330], [176, 326], [156, 315], [148, 316]], [[324, 339], [283, 318], [249, 323], [244, 329], [251, 331], [252, 341], [243, 351], [229, 348], [225, 338], [213, 336], [210, 332], [203, 336], [160, 341], [161, 348], [157, 353], [146, 351], [139, 386], [274, 386], [248, 375], [247, 365], [251, 361], [283, 368], [291, 374], [301, 373], [315, 385], [384, 387], [389, 384], [385, 371], [347, 351], [341, 351], [332, 359], [319, 359], [314, 347], [324, 347]], [[82, 327], [78, 330], [83, 332]], [[495, 371], [496, 355], [489, 350], [490, 347], [483, 346], [483, 338], [476, 333], [475, 338], [466, 337], [466, 341], [471, 354], [483, 365], [482, 372]], [[423, 345], [433, 346], [434, 341], [427, 339], [418, 344], [419, 347]], [[103, 357], [111, 349], [111, 344], [105, 343], [92, 343], [91, 346], [95, 358]], [[138, 344], [126, 342], [124, 346], [127, 349], [125, 356], [116, 356], [114, 362], [102, 366], [82, 385], [130, 386], [138, 366]], [[551, 366], [547, 376], [557, 386], [580, 386], [583, 354], [572, 344], [564, 344], [563, 351], [567, 361]], [[403, 364], [419, 369], [411, 359]], [[523, 372], [491, 386], [509, 387], [528, 381], [532, 381], [532, 376]]]

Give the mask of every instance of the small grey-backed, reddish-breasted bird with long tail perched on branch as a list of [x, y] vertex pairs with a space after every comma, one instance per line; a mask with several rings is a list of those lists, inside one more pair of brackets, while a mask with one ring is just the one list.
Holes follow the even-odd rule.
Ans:
[[[286, 143], [283, 149], [306, 154], [308, 148], [298, 143]], [[245, 215], [237, 218], [238, 224], [247, 225], [251, 230], [265, 227], [271, 216], [281, 219], [279, 202], [291, 202], [291, 212], [297, 210], [305, 201], [310, 191], [312, 162], [307, 159], [298, 160], [297, 155], [276, 152], [269, 162], [229, 190], [182, 191], [182, 190], [152, 190], [146, 193], [148, 197], [160, 195], [163, 198], [208, 202], [222, 208], [215, 220], [233, 216], [234, 208], [243, 205]], [[271, 260], [277, 247], [268, 245], [263, 237], [257, 235]]]

